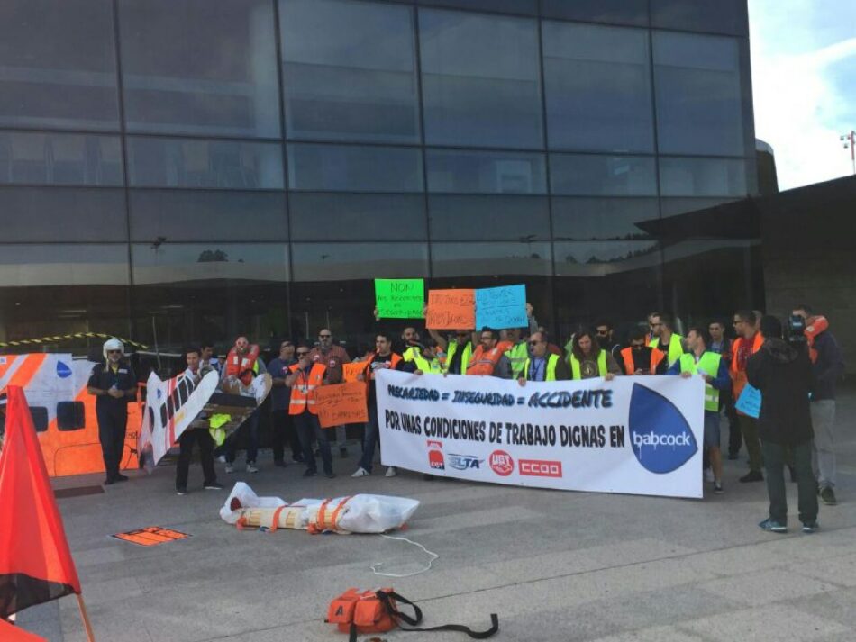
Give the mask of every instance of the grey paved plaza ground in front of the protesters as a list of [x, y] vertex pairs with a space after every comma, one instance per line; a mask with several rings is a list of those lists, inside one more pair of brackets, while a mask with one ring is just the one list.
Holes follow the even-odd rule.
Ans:
[[[459, 622], [496, 640], [624, 642], [851, 642], [856, 639], [856, 393], [838, 404], [840, 504], [821, 506], [821, 530], [803, 535], [796, 484], [790, 531], [757, 524], [767, 515], [764, 484], [738, 484], [744, 457], [726, 462], [725, 494], [704, 501], [529, 490], [405, 473], [351, 479], [356, 459], [337, 459], [339, 477], [305, 480], [302, 466], [257, 475], [218, 472], [260, 495], [302, 497], [386, 493], [422, 502], [405, 535], [439, 554], [418, 569], [415, 547], [375, 535], [238, 531], [217, 511], [228, 490], [175, 493], [175, 469], [133, 474], [105, 493], [59, 500], [99, 642], [273, 642], [346, 640], [323, 623], [328, 602], [349, 586], [392, 584], [423, 608], [425, 626]], [[727, 431], [724, 435], [726, 439]], [[359, 447], [352, 446], [354, 456]], [[742, 454], [744, 455], [744, 453]], [[239, 464], [242, 460], [239, 455]], [[198, 466], [191, 486], [201, 485]], [[100, 483], [56, 480], [59, 487]], [[163, 526], [192, 537], [138, 547], [110, 536]], [[51, 642], [85, 636], [72, 597], [23, 611], [25, 628]], [[457, 633], [391, 632], [392, 640], [469, 639]]]

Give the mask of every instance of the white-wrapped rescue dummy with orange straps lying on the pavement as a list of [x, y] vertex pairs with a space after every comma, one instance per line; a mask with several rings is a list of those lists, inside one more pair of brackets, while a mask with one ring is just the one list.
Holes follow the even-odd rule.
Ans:
[[363, 493], [287, 504], [279, 497], [259, 497], [249, 485], [238, 482], [220, 509], [220, 517], [239, 529], [302, 529], [348, 535], [401, 529], [418, 507], [418, 501], [406, 497]]

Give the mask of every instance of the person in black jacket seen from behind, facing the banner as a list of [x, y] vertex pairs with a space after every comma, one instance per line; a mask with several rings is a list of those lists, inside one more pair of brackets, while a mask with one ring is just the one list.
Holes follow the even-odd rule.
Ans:
[[749, 357], [746, 376], [760, 390], [758, 433], [767, 468], [769, 518], [761, 529], [775, 533], [788, 530], [788, 501], [785, 493], [785, 450], [793, 451], [797, 471], [799, 520], [803, 532], [817, 529], [817, 493], [812, 472], [811, 412], [808, 393], [814, 376], [805, 347], [796, 348], [781, 339], [782, 324], [775, 317], [761, 319], [764, 344]]

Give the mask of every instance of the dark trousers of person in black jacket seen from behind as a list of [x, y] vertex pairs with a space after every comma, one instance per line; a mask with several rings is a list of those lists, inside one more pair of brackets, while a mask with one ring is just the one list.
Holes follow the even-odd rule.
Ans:
[[785, 451], [794, 453], [797, 469], [797, 493], [799, 520], [811, 524], [817, 520], [817, 483], [812, 472], [812, 443], [805, 441], [794, 446], [763, 443], [764, 464], [767, 467], [767, 493], [769, 494], [769, 517], [782, 524], [788, 523], [788, 498], [785, 490]]

